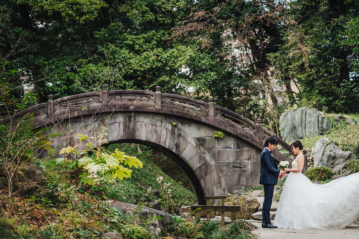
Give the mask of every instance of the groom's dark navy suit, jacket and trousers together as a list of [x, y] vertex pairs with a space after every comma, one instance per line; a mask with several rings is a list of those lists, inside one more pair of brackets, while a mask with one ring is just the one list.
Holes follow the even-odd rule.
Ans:
[[261, 153], [261, 179], [260, 184], [264, 187], [264, 202], [262, 209], [262, 221], [264, 224], [270, 224], [270, 207], [273, 200], [274, 186], [278, 182], [280, 170], [267, 148]]

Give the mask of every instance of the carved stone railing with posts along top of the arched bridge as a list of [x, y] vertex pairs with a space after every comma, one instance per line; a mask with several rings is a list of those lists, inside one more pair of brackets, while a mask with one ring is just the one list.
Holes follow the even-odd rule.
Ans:
[[[34, 128], [39, 128], [66, 118], [113, 111], [155, 112], [200, 121], [236, 135], [260, 149], [263, 148], [265, 138], [272, 135], [278, 139], [279, 144], [285, 150], [291, 153], [287, 143], [269, 130], [262, 128], [260, 119], [255, 123], [233, 111], [215, 106], [212, 97], [207, 103], [185, 96], [161, 93], [159, 86], [156, 87], [155, 92], [145, 90], [107, 91], [107, 87], [103, 86], [102, 91], [71, 95], [54, 101], [52, 95], [49, 95], [47, 103], [29, 107], [5, 118], [0, 123], [9, 124], [11, 120], [16, 122], [32, 112], [35, 121]], [[278, 161], [291, 161], [279, 152], [274, 152], [274, 154]]]

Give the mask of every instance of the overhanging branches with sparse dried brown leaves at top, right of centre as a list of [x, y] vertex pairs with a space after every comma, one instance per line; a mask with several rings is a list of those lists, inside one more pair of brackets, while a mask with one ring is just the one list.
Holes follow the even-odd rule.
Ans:
[[[292, 9], [297, 7], [290, 6]], [[225, 42], [234, 43], [226, 44], [219, 53], [221, 56], [228, 56], [233, 53], [234, 48], [243, 49], [243, 46], [249, 46], [249, 42], [253, 41], [258, 47], [265, 47], [264, 43], [269, 42], [268, 38], [279, 37], [279, 28], [286, 27], [291, 56], [302, 57], [306, 62], [306, 36], [300, 31], [300, 25], [288, 10], [286, 1], [279, 4], [273, 0], [226, 0], [210, 10], [199, 9], [196, 6], [187, 19], [172, 28], [173, 34], [170, 39], [192, 39], [202, 48], [208, 48], [213, 44], [213, 33], [219, 32], [222, 33]], [[238, 13], [242, 15], [235, 15]], [[232, 46], [228, 47], [229, 45]]]

